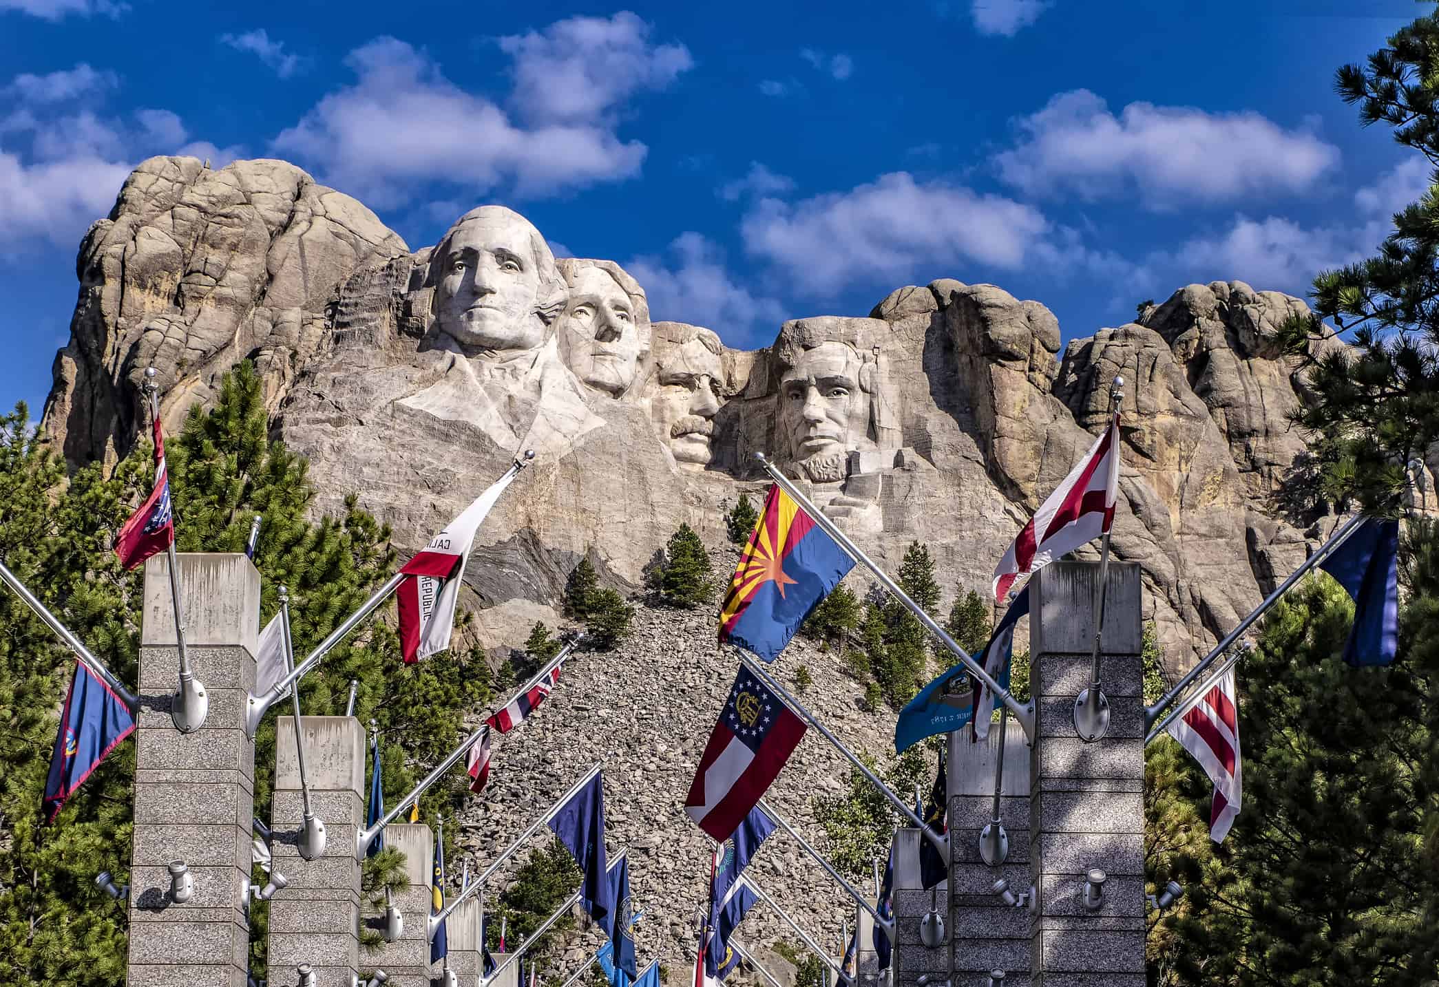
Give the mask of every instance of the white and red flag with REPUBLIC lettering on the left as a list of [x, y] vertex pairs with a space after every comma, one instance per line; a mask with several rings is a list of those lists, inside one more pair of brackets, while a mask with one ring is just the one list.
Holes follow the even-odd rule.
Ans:
[[400, 570], [407, 577], [396, 590], [400, 601], [400, 653], [406, 665], [449, 647], [455, 604], [475, 532], [518, 473], [519, 463], [515, 463]]

